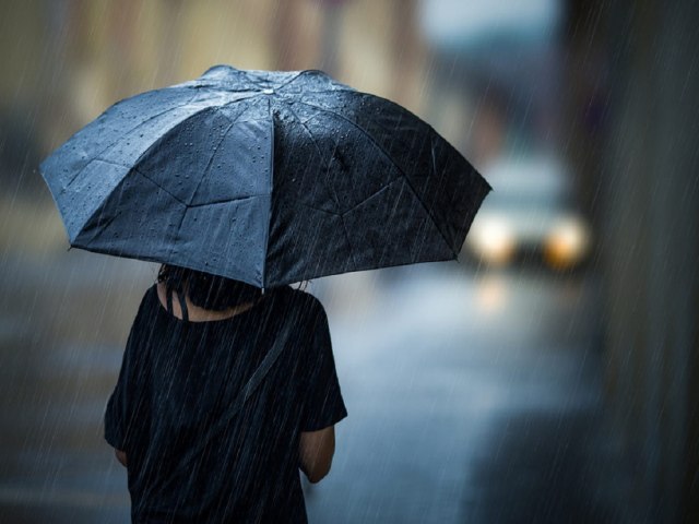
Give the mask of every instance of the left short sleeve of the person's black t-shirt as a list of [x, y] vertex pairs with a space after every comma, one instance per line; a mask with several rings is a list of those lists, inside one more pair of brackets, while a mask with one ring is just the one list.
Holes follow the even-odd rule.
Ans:
[[139, 420], [143, 419], [140, 392], [142, 390], [143, 362], [140, 358], [139, 340], [141, 337], [142, 317], [147, 294], [139, 307], [139, 312], [131, 325], [129, 338], [123, 350], [121, 369], [117, 384], [107, 401], [105, 409], [105, 440], [117, 450], [128, 451], [130, 441], [137, 430]]

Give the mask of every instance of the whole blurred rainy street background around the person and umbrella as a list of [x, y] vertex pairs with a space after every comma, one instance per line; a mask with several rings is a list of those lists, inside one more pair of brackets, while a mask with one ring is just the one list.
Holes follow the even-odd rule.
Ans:
[[156, 267], [68, 250], [43, 157], [210, 66], [396, 100], [494, 187], [459, 262], [319, 278], [350, 416], [310, 522], [699, 522], [699, 4], [0, 2], [0, 522], [129, 521], [102, 440]]

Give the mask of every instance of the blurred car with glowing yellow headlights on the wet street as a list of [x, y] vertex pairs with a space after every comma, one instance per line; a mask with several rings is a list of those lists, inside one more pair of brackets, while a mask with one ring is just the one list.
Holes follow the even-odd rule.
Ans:
[[572, 178], [555, 157], [500, 158], [483, 170], [493, 186], [462, 253], [486, 265], [543, 262], [580, 266], [590, 255], [591, 225], [574, 203]]

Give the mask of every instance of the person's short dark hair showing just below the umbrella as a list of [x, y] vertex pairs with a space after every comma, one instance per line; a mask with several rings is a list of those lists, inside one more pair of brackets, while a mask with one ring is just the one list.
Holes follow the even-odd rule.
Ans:
[[187, 294], [194, 306], [215, 311], [254, 301], [262, 295], [262, 289], [245, 282], [169, 264], [161, 266], [157, 282], [165, 284], [167, 293]]

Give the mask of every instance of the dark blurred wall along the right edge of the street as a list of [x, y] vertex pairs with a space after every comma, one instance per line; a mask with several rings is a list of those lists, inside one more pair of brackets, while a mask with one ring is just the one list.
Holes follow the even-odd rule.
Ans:
[[699, 522], [699, 5], [570, 2], [570, 154], [602, 233], [636, 522]]

